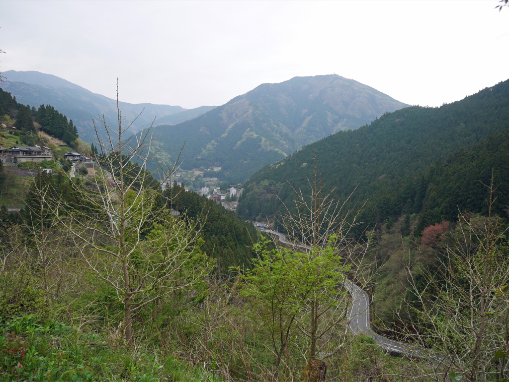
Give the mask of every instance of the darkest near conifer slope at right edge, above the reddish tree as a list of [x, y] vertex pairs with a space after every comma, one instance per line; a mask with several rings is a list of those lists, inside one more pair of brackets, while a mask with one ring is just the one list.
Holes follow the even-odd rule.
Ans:
[[415, 182], [415, 207], [421, 217], [416, 232], [442, 220], [454, 221], [459, 211], [488, 215], [493, 169], [496, 199], [493, 213], [509, 217], [509, 129], [495, 132], [470, 149], [441, 158]]

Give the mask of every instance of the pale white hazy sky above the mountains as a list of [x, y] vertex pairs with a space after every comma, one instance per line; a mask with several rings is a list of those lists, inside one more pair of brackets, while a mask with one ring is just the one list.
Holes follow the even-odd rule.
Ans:
[[484, 1], [0, 1], [0, 71], [130, 103], [222, 105], [332, 74], [440, 106], [509, 77], [509, 9]]

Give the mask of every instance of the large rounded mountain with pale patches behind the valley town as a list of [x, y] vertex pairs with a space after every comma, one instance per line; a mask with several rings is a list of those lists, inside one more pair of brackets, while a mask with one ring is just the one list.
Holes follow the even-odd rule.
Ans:
[[157, 126], [155, 148], [169, 164], [186, 141], [183, 168], [221, 166], [225, 180], [239, 181], [302, 145], [406, 106], [341, 76], [295, 77], [262, 84], [192, 120]]

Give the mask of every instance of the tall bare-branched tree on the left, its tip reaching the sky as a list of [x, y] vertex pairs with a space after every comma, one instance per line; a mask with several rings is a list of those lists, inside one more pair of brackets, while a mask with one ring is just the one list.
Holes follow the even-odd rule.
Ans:
[[[101, 118], [106, 139], [100, 138], [94, 121], [96, 159], [105, 170], [98, 170], [88, 188], [70, 179], [86, 208], [58, 217], [59, 224], [73, 234], [82, 260], [123, 303], [125, 339], [132, 344], [132, 314], [200, 281], [210, 271], [210, 263], [199, 250], [200, 229], [173, 216], [160, 203], [159, 190], [150, 186], [153, 179], [146, 171], [150, 128], [124, 138], [134, 121], [126, 125], [122, 119], [118, 90], [117, 108], [115, 128]], [[177, 163], [168, 168], [163, 181], [176, 168]]]

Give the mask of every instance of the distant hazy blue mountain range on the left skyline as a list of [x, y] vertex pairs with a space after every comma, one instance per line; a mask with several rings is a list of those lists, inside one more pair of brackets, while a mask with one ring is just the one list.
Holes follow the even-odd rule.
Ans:
[[[14, 95], [20, 103], [30, 105], [52, 105], [61, 113], [73, 119], [78, 133], [83, 140], [95, 137], [92, 118], [99, 119], [104, 114], [108, 123], [115, 125], [117, 118], [117, 101], [96, 94], [62, 78], [35, 71], [7, 71], [3, 74], [6, 80], [2, 83], [4, 90]], [[112, 88], [115, 83], [111, 83]], [[185, 111], [180, 106], [129, 104], [120, 102], [122, 116], [131, 121], [144, 108], [145, 111], [133, 124], [133, 132], [142, 126], [148, 127], [154, 117], [163, 117]]]

